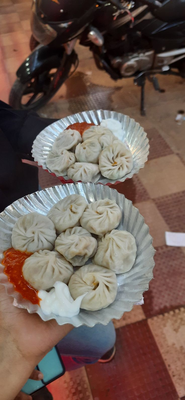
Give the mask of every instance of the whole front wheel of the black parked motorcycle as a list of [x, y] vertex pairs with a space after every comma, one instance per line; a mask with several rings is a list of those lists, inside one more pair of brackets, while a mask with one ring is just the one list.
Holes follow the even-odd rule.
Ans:
[[[26, 83], [16, 79], [9, 96], [9, 104], [17, 110], [38, 110], [44, 106], [68, 78], [72, 61], [61, 70], [55, 68], [30, 79]], [[73, 71], [74, 72], [74, 71]], [[59, 78], [58, 78], [59, 77]], [[57, 79], [56, 79], [57, 78]], [[57, 83], [56, 83], [57, 82]]]

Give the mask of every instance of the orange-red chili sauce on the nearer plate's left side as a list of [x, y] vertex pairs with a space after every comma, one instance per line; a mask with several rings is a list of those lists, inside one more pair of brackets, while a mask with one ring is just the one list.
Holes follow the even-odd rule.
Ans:
[[2, 260], [2, 264], [4, 265], [4, 273], [8, 276], [9, 282], [14, 285], [16, 292], [19, 292], [24, 299], [30, 300], [32, 304], [39, 304], [38, 290], [34, 289], [22, 275], [24, 261], [32, 253], [10, 248], [3, 254], [4, 259]]

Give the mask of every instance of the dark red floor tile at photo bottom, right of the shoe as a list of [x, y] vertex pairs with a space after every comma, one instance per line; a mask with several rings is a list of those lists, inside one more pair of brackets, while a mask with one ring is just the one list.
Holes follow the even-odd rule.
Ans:
[[94, 400], [177, 400], [178, 395], [147, 321], [117, 329], [109, 364], [86, 367]]

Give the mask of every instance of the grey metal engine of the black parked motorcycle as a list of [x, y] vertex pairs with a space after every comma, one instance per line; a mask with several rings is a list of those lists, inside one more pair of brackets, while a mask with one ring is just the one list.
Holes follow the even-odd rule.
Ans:
[[118, 68], [122, 76], [129, 77], [137, 71], [149, 70], [153, 65], [153, 60], [153, 50], [142, 50], [142, 52], [114, 57], [111, 59], [111, 65], [113, 68]]

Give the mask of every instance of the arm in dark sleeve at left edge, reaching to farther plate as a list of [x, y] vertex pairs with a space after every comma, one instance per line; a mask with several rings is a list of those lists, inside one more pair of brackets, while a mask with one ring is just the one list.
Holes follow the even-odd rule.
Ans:
[[33, 160], [34, 139], [54, 121], [35, 112], [14, 110], [0, 101], [0, 212], [38, 190], [38, 167], [22, 163], [21, 158]]

